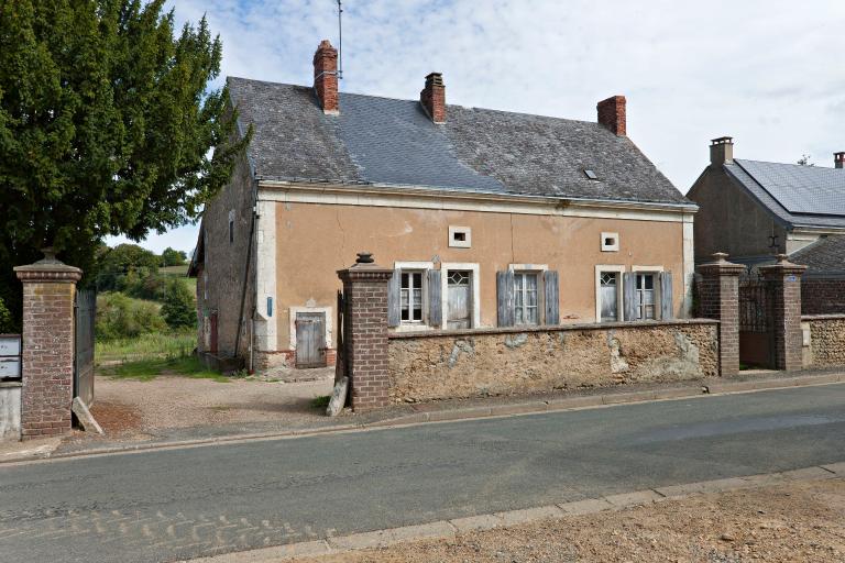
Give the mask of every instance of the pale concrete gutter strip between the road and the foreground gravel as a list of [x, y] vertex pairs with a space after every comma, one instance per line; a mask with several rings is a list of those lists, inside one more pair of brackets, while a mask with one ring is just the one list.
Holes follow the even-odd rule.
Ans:
[[845, 478], [845, 462], [828, 465], [804, 467], [783, 473], [748, 475], [724, 479], [688, 483], [668, 487], [656, 487], [645, 490], [634, 490], [601, 498], [586, 498], [559, 505], [539, 506], [504, 512], [468, 516], [451, 520], [389, 528], [370, 532], [359, 532], [348, 536], [327, 537], [320, 540], [301, 543], [290, 543], [274, 548], [262, 548], [240, 553], [227, 553], [210, 558], [190, 560], [191, 563], [271, 563], [279, 560], [290, 560], [308, 555], [330, 555], [355, 550], [378, 549], [402, 542], [449, 539], [461, 533], [492, 530], [511, 526], [535, 523], [544, 520], [570, 518], [573, 516], [592, 515], [607, 510], [623, 510], [637, 506], [676, 500], [693, 495], [727, 493], [745, 488], [756, 488], [770, 485], [782, 485], [795, 481], [815, 481], [821, 478]]

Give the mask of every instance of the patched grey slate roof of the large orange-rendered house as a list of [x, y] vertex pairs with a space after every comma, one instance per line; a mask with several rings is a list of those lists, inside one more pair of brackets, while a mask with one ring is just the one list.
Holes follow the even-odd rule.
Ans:
[[345, 92], [332, 117], [308, 87], [228, 85], [240, 126], [254, 126], [260, 179], [693, 205], [629, 139], [597, 123], [447, 106], [436, 125], [415, 100]]

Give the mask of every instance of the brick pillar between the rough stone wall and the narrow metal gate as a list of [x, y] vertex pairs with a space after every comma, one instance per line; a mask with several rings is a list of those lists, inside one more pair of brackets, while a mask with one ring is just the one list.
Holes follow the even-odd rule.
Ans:
[[739, 275], [740, 264], [727, 262], [717, 252], [713, 262], [699, 266], [699, 314], [718, 321], [718, 373], [722, 377], [739, 373]]

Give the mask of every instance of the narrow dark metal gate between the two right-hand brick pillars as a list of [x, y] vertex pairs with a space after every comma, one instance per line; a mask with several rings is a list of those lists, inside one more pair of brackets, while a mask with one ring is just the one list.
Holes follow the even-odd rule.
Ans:
[[775, 327], [770, 284], [756, 272], [739, 278], [739, 362], [775, 367]]

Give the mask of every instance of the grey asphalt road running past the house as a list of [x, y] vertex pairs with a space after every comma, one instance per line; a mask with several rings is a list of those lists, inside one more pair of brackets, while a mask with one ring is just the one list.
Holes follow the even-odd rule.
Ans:
[[845, 461], [845, 385], [0, 466], [0, 561], [174, 561]]

